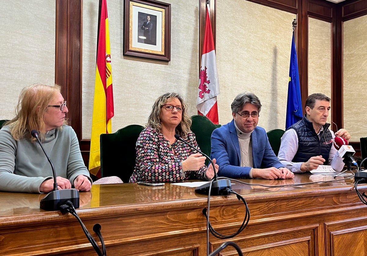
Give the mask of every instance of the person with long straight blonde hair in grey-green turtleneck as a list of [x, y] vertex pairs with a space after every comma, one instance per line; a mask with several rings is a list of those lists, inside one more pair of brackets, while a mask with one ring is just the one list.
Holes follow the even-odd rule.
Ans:
[[50, 163], [31, 135], [36, 130], [55, 166], [58, 189], [89, 191], [92, 180], [81, 157], [60, 86], [33, 84], [19, 96], [16, 116], [0, 130], [0, 190], [42, 193], [53, 189]]

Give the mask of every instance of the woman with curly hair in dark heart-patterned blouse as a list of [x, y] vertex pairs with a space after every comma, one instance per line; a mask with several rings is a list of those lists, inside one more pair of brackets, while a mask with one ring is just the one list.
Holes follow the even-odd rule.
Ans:
[[[205, 166], [206, 157], [175, 138], [178, 134], [200, 150], [190, 125], [187, 105], [180, 94], [160, 96], [137, 140], [137, 159], [130, 182], [177, 182], [189, 178], [211, 180], [214, 170], [212, 165]], [[215, 164], [215, 159], [213, 162]], [[218, 172], [217, 164], [215, 169]]]

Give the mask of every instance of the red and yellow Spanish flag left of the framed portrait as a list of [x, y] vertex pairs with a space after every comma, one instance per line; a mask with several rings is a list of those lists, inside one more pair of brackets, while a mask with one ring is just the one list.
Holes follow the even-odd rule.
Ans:
[[110, 37], [106, 0], [99, 1], [97, 64], [92, 116], [91, 147], [89, 155], [89, 172], [97, 175], [100, 166], [99, 136], [111, 133], [113, 117], [112, 70], [110, 54]]

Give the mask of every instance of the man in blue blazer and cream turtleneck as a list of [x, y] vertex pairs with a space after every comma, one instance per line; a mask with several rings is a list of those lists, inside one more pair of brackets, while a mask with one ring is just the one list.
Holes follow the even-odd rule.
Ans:
[[266, 131], [257, 127], [261, 103], [253, 93], [241, 93], [232, 102], [233, 120], [211, 135], [211, 158], [219, 176], [232, 178], [293, 178], [272, 150]]

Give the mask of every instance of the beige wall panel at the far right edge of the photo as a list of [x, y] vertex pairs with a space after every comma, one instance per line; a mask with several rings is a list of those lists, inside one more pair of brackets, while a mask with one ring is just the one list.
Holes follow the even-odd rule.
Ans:
[[352, 141], [367, 136], [367, 15], [343, 23], [344, 128]]

